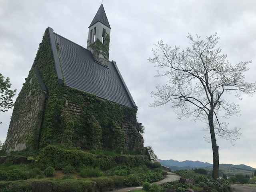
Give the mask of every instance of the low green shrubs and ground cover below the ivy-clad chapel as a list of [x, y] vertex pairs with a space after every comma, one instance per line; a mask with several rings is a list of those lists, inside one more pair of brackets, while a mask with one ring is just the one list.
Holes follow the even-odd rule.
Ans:
[[[0, 181], [0, 188], [3, 188], [4, 191], [29, 192], [31, 191], [32, 182], [37, 181], [52, 183], [54, 190], [79, 192], [82, 191], [81, 186], [87, 186], [90, 190], [94, 182], [96, 182], [99, 190], [106, 191], [126, 187], [126, 182], [129, 183], [129, 186], [135, 185], [137, 177], [141, 177], [142, 181], [152, 182], [158, 181], [164, 176], [159, 168], [160, 164], [152, 164], [142, 155], [136, 156], [129, 154], [129, 152], [127, 152], [129, 155], [124, 155], [115, 151], [91, 150], [91, 153], [86, 152], [88, 156], [93, 157], [92, 161], [88, 163], [84, 161], [83, 154], [81, 153], [83, 152], [82, 150], [76, 148], [71, 153], [68, 150], [64, 150], [62, 146], [52, 146], [52, 148], [64, 154], [64, 156], [58, 154], [61, 157], [59, 159], [63, 161], [63, 166], [59, 165], [60, 162], [56, 160], [56, 156], [47, 156], [48, 161], [42, 161], [45, 156], [42, 156], [41, 152], [46, 149], [50, 150], [49, 146], [48, 148], [41, 149], [40, 153], [39, 151], [30, 152], [29, 150], [14, 152], [6, 162], [0, 164], [0, 176], [2, 174], [2, 178], [4, 178], [4, 181]], [[17, 156], [33, 157], [34, 161], [30, 164], [13, 164], [13, 162], [17, 162]], [[79, 166], [68, 162], [71, 158], [70, 156], [72, 158], [74, 156], [77, 161], [79, 160]], [[113, 156], [123, 157], [118, 157], [118, 160], [116, 160]], [[35, 159], [38, 161], [35, 161]], [[47, 178], [44, 176], [44, 171], [48, 167], [47, 163], [52, 161], [55, 161], [56, 164], [58, 163], [59, 167], [52, 166], [57, 174]], [[73, 159], [70, 161], [72, 162]], [[116, 162], [122, 162], [123, 164], [118, 165]], [[68, 175], [64, 175], [64, 173]], [[16, 180], [16, 178], [24, 180]], [[76, 188], [76, 186], [78, 187]], [[135, 190], [134, 192], [136, 191], [145, 192], [145, 190]]]

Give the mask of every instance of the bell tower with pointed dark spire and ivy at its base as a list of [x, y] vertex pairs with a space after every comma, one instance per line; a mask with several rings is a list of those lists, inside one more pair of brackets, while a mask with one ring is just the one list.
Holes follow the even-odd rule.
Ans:
[[96, 62], [105, 66], [108, 66], [110, 29], [103, 4], [101, 4], [89, 26], [87, 49], [92, 52]]

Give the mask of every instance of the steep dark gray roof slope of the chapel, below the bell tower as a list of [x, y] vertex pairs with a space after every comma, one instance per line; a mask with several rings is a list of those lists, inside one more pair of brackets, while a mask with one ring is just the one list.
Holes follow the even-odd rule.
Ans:
[[86, 48], [53, 34], [59, 44], [58, 56], [66, 86], [124, 106], [136, 107], [114, 61], [109, 61], [108, 67], [99, 64]]

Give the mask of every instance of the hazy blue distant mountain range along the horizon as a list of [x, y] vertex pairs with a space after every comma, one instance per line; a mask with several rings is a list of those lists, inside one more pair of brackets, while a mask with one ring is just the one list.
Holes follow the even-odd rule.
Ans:
[[[184, 170], [184, 169], [195, 169], [195, 168], [212, 168], [212, 164], [210, 163], [204, 163], [204, 162], [200, 162], [200, 161], [176, 161], [176, 160], [161, 160], [159, 159], [160, 163], [163, 166], [166, 167], [170, 167], [172, 170]], [[242, 169], [242, 170], [250, 170], [250, 171], [254, 171], [256, 170], [256, 168], [252, 168], [250, 166], [247, 165], [233, 165], [233, 164], [220, 164], [220, 168], [221, 167], [232, 167], [232, 168], [236, 168], [236, 169]]]

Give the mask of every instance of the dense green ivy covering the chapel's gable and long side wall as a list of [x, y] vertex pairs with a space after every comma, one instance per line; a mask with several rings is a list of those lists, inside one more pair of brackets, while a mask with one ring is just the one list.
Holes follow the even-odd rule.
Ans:
[[[58, 49], [58, 45], [56, 46]], [[64, 85], [57, 84], [48, 29], [38, 49], [33, 67], [38, 68], [48, 90], [48, 97], [44, 104], [44, 112], [40, 113], [43, 115], [40, 131], [36, 132], [39, 140], [22, 138], [22, 143], [26, 144], [26, 147], [33, 148], [32, 146], [36, 146], [38, 142], [40, 148], [48, 144], [64, 144], [81, 148], [107, 148], [120, 152], [124, 150], [143, 151], [143, 138], [136, 129], [137, 109], [67, 87], [65, 80]], [[28, 83], [32, 74], [33, 72], [30, 71]], [[31, 90], [31, 86], [26, 86], [26, 83], [22, 90]], [[35, 90], [39, 91], [39, 88]], [[24, 108], [22, 103], [26, 94], [19, 95], [15, 108], [19, 110]], [[34, 106], [31, 104], [26, 108], [31, 110]], [[32, 118], [30, 120], [34, 121]], [[16, 123], [18, 120], [12, 121]], [[23, 122], [24, 119], [20, 118], [19, 121]], [[11, 130], [17, 132], [20, 126], [13, 126]], [[30, 134], [31, 138], [36, 138], [31, 135], [31, 132], [26, 132], [26, 134]]]

